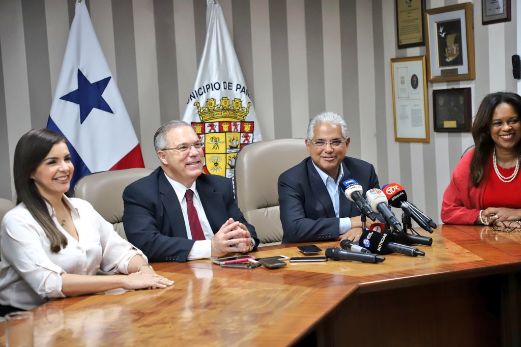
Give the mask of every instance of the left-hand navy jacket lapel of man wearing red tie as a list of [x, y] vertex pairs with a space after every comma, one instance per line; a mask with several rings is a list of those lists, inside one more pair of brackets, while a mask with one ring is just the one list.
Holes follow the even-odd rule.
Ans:
[[176, 237], [187, 237], [187, 228], [184, 225], [181, 205], [163, 170], [159, 172], [158, 186], [161, 203], [170, 221], [170, 233]]

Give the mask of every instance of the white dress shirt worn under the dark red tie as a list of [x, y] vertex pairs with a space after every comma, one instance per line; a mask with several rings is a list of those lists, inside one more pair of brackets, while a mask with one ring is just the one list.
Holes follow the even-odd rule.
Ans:
[[212, 256], [212, 238], [214, 237], [214, 232], [212, 231], [212, 227], [210, 226], [210, 222], [206, 217], [206, 213], [204, 212], [203, 205], [201, 204], [201, 199], [199, 197], [199, 193], [197, 193], [197, 187], [195, 186], [196, 181], [192, 183], [190, 188], [184, 187], [183, 184], [179, 183], [168, 177], [165, 173], [165, 177], [172, 185], [173, 190], [176, 192], [177, 199], [179, 200], [179, 204], [181, 205], [181, 211], [183, 212], [183, 220], [184, 226], [187, 229], [187, 238], [192, 240], [192, 231], [190, 230], [190, 224], [188, 222], [188, 209], [187, 209], [187, 199], [184, 197], [184, 194], [187, 193], [187, 189], [191, 189], [194, 192], [193, 196], [193, 204], [195, 210], [197, 211], [197, 216], [199, 216], [199, 221], [201, 222], [201, 227], [203, 228], [204, 237], [206, 240], [197, 240], [195, 241], [192, 249], [188, 253], [187, 260], [195, 260], [195, 259], [204, 259]]

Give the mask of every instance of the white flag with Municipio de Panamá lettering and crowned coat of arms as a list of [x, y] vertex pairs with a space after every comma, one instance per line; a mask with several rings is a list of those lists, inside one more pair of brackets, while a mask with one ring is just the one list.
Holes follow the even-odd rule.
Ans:
[[204, 143], [203, 171], [233, 178], [237, 152], [262, 136], [221, 6], [214, 0], [207, 0], [206, 30], [183, 120]]

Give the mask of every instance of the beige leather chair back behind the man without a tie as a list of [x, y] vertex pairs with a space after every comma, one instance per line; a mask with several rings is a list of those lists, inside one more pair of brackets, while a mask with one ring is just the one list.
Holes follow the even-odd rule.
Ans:
[[277, 181], [282, 172], [307, 158], [304, 139], [255, 142], [241, 149], [235, 159], [235, 196], [261, 243], [280, 243], [282, 224]]

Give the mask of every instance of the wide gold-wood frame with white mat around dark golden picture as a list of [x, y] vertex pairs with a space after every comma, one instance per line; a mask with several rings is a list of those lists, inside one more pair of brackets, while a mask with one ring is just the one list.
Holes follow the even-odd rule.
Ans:
[[430, 82], [476, 78], [471, 3], [426, 10], [425, 31]]

